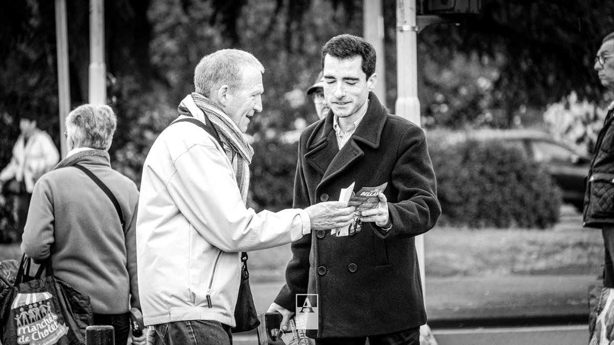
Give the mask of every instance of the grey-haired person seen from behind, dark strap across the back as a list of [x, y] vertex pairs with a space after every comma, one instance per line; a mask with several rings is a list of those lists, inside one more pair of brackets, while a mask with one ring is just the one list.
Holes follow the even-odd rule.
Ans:
[[70, 112], [68, 157], [34, 186], [21, 249], [34, 262], [49, 259], [53, 276], [90, 298], [93, 323], [112, 325], [115, 344], [126, 344], [128, 311], [140, 308], [134, 249], [139, 192], [111, 169], [107, 151], [116, 125], [104, 104]]

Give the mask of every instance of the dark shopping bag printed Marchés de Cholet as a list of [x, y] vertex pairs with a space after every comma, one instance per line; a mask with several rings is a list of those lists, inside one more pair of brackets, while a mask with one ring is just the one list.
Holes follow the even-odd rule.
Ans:
[[[22, 260], [20, 273], [24, 266]], [[41, 277], [41, 270], [29, 281], [23, 277], [31, 276], [18, 274], [2, 301], [2, 343], [85, 344], [85, 328], [93, 324], [90, 298], [58, 277]]]

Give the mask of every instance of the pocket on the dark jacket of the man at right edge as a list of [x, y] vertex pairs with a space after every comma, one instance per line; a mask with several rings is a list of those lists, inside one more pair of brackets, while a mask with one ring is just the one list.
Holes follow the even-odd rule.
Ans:
[[595, 172], [588, 179], [590, 188], [588, 214], [591, 217], [614, 216], [614, 174]]

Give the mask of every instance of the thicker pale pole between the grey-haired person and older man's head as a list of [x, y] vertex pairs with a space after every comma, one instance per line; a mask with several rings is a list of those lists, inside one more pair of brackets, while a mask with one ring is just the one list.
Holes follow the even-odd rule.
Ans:
[[90, 95], [91, 104], [107, 103], [104, 66], [104, 0], [90, 0]]

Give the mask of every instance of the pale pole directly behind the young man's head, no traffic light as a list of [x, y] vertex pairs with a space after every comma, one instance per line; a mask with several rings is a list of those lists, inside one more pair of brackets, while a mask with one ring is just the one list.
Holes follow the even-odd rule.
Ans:
[[[373, 45], [378, 61], [375, 73], [378, 82], [375, 84], [375, 95], [379, 102], [386, 106], [386, 59], [384, 58], [384, 16], [381, 0], [365, 0], [362, 6], [363, 37]], [[368, 76], [367, 76], [368, 77]]]

